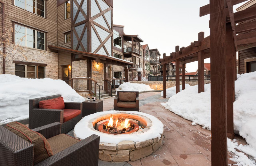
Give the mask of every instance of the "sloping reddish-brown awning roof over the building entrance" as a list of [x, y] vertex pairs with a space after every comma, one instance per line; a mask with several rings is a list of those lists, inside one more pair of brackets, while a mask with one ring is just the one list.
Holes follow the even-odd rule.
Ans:
[[97, 62], [113, 64], [113, 65], [117, 65], [117, 66], [128, 66], [128, 65], [134, 64], [133, 62], [129, 62], [129, 61], [126, 61], [123, 59], [119, 59], [119, 58], [115, 58], [115, 57], [111, 57], [111, 56], [107, 56], [107, 55], [94, 54], [94, 53], [78, 51], [78, 50], [74, 50], [74, 49], [57, 47], [57, 46], [53, 46], [53, 45], [48, 45], [48, 48], [74, 54], [74, 55], [76, 55], [74, 57], [74, 59], [92, 59]]

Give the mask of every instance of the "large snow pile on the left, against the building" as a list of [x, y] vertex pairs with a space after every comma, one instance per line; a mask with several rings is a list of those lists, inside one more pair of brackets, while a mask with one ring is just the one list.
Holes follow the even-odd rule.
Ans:
[[28, 79], [11, 74], [1, 74], [0, 123], [27, 118], [29, 99], [55, 94], [61, 94], [65, 102], [85, 101], [82, 96], [62, 80], [50, 78]]

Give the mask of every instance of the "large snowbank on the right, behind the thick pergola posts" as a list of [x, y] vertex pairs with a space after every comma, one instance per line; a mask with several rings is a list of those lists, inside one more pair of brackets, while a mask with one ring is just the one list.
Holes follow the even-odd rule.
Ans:
[[[188, 87], [180, 93], [173, 95], [165, 103], [165, 108], [185, 119], [193, 121], [193, 123], [200, 124], [204, 128], [211, 130], [211, 84], [204, 85], [204, 90], [205, 92], [198, 94], [197, 85]], [[238, 145], [239, 150], [256, 159], [255, 94], [256, 72], [237, 75], [237, 80], [235, 81], [234, 130], [245, 138], [248, 143], [245, 146]], [[228, 145], [229, 149], [231, 149], [230, 146], [234, 144], [229, 142]], [[242, 160], [238, 152], [236, 157], [233, 157], [236, 162]], [[240, 163], [244, 162], [240, 161]]]

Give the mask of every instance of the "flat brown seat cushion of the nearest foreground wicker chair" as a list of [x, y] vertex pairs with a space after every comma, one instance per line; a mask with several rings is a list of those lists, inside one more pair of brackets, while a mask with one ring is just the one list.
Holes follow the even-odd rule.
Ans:
[[66, 134], [59, 134], [48, 139], [48, 142], [52, 147], [52, 152], [54, 155], [68, 147], [71, 147], [72, 145], [76, 144], [79, 141], [80, 140], [77, 140]]

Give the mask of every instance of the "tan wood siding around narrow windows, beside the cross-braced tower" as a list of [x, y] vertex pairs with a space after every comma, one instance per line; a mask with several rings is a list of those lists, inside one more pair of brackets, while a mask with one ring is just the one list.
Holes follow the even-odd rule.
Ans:
[[71, 42], [65, 43], [64, 33], [68, 31], [71, 31], [71, 19], [65, 19], [65, 3], [63, 3], [58, 6], [58, 47], [71, 48]]

